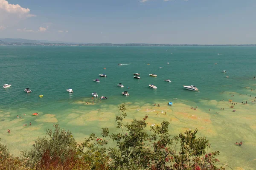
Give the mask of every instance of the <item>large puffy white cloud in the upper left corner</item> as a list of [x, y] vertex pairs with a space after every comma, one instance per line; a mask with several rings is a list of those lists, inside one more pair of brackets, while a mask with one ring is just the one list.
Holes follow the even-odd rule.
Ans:
[[29, 8], [23, 8], [18, 4], [9, 4], [6, 0], [0, 0], [0, 11], [1, 13], [17, 14], [18, 17], [35, 17], [34, 14], [30, 14]]

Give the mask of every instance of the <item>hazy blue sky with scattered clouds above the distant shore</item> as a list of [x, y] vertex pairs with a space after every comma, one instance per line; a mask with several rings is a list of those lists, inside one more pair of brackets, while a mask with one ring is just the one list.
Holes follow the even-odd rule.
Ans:
[[0, 38], [256, 44], [256, 0], [0, 0]]

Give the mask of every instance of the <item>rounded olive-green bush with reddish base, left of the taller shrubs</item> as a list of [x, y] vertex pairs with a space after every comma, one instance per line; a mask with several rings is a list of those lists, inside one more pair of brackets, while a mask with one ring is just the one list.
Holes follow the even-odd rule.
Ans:
[[48, 138], [38, 138], [31, 150], [22, 152], [27, 167], [47, 169], [77, 158], [77, 144], [70, 131], [55, 125], [55, 130], [47, 129], [46, 134]]

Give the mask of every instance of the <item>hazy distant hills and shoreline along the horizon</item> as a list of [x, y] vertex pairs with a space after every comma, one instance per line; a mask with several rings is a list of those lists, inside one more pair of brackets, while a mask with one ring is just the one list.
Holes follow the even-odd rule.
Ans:
[[27, 40], [22, 38], [0, 38], [1, 45], [37, 45], [37, 46], [256, 46], [256, 44], [224, 44], [224, 45], [201, 45], [201, 44], [147, 44], [147, 43], [77, 43], [48, 40]]

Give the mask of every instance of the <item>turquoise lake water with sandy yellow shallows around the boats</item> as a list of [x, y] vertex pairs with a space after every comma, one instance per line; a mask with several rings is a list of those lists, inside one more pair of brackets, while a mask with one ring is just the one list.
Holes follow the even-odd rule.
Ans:
[[[227, 73], [221, 73], [222, 70]], [[164, 109], [169, 109], [165, 104], [174, 102], [172, 116], [189, 113], [186, 108], [196, 105], [200, 108], [198, 116], [208, 115], [206, 119], [211, 122], [210, 128], [217, 134], [211, 135], [209, 130], [200, 133], [199, 129], [199, 135], [209, 138], [212, 150], [221, 151], [222, 163], [250, 170], [256, 167], [256, 105], [251, 102], [256, 96], [256, 79], [253, 79], [256, 76], [256, 47], [0, 46], [0, 73], [0, 85], [12, 84], [8, 89], [0, 89], [0, 137], [1, 142], [16, 154], [31, 147], [33, 141], [44, 136], [45, 130], [54, 123], [71, 130], [81, 141], [90, 132], [96, 133], [101, 127], [111, 125], [121, 103], [131, 105], [128, 113], [133, 119], [143, 117], [136, 113], [137, 110], [152, 108], [154, 103], [161, 103]], [[103, 73], [106, 78], [99, 77]], [[141, 79], [134, 79], [134, 73], [140, 73]], [[157, 77], [148, 75], [152, 73]], [[99, 83], [92, 81], [96, 78], [100, 79]], [[117, 87], [118, 83], [125, 88]], [[150, 89], [149, 84], [156, 85], [157, 90]], [[199, 91], [184, 90], [183, 85], [196, 85]], [[33, 92], [27, 95], [25, 88]], [[67, 88], [72, 88], [74, 93], [67, 93]], [[94, 105], [85, 104], [92, 102], [91, 93], [94, 91], [108, 99], [95, 99]], [[123, 91], [128, 91], [130, 96], [122, 96]], [[39, 98], [40, 94], [44, 97]], [[239, 105], [236, 113], [226, 111], [232, 94], [233, 101], [239, 104], [247, 101], [247, 108]], [[226, 101], [225, 114], [213, 116], [220, 110], [221, 99]], [[108, 115], [100, 121], [97, 117], [103, 114], [98, 114], [98, 108]], [[34, 112], [40, 113], [41, 117], [31, 116]], [[23, 118], [17, 119], [17, 115]], [[243, 119], [239, 118], [240, 115]], [[77, 119], [79, 116], [81, 119]], [[155, 121], [163, 119], [152, 116]], [[198, 125], [202, 129], [208, 128], [203, 122], [177, 119], [179, 125], [171, 123], [174, 135], [184, 131], [183, 127], [197, 128]], [[25, 129], [23, 124], [29, 122], [38, 128]], [[7, 129], [12, 130], [10, 134], [6, 134]], [[234, 142], [240, 142], [238, 140], [244, 142], [243, 148], [234, 146]], [[236, 158], [236, 154], [240, 158]]]

